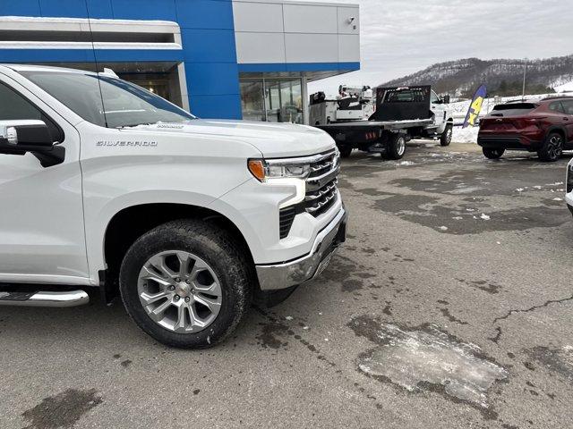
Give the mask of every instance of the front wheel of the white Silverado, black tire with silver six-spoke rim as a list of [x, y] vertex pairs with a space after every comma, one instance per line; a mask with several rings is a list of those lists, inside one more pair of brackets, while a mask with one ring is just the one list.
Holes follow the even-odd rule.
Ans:
[[[213, 346], [235, 331], [252, 302], [251, 271], [242, 255], [230, 235], [211, 223], [160, 225], [124, 257], [119, 285], [124, 306], [141, 330], [167, 346]], [[186, 269], [182, 260], [191, 261]]]

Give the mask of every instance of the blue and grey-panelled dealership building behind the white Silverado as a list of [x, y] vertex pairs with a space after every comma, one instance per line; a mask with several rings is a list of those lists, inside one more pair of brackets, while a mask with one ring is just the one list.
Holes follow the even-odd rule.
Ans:
[[0, 1], [0, 63], [99, 71], [204, 118], [307, 122], [307, 83], [360, 68], [356, 4]]

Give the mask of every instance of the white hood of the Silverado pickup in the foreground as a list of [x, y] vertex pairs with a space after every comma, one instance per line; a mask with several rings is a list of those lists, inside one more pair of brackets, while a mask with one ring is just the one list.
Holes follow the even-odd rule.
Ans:
[[197, 119], [185, 123], [138, 125], [134, 129], [242, 140], [267, 158], [315, 155], [335, 147], [334, 140], [326, 132], [291, 123]]

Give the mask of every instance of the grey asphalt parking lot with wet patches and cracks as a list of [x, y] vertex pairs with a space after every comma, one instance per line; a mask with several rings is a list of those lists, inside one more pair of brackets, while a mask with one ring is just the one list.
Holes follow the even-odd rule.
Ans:
[[346, 246], [216, 349], [167, 349], [120, 305], [3, 307], [0, 427], [571, 427], [568, 161], [355, 152]]

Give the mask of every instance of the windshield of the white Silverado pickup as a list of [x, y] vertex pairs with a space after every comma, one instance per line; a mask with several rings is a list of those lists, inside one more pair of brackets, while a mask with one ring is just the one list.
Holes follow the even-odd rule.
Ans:
[[22, 71], [21, 74], [81, 118], [101, 127], [134, 127], [196, 119], [167, 100], [125, 80], [64, 71]]

